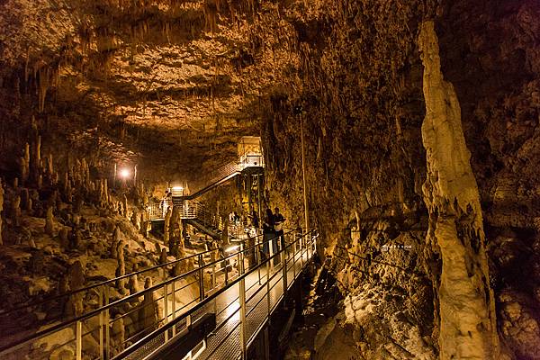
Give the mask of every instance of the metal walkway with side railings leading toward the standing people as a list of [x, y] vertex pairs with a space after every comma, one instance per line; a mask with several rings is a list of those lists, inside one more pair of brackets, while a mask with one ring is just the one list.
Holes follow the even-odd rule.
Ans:
[[[55, 355], [76, 360], [158, 359], [166, 347], [189, 338], [193, 327], [209, 316], [215, 324], [211, 322], [211, 329], [204, 328], [202, 338], [193, 347], [183, 347], [185, 353], [178, 358], [245, 357], [247, 348], [284, 299], [286, 289], [316, 253], [318, 235], [314, 231], [289, 231], [284, 236], [286, 246], [275, 254], [272, 244], [279, 240], [265, 244], [260, 237], [250, 238], [247, 246], [229, 247], [225, 257], [220, 257], [220, 250], [212, 249], [60, 295], [52, 301], [63, 298], [65, 304], [67, 299], [67, 303], [95, 299], [98, 306], [3, 344], [0, 358], [23, 358], [31, 352], [32, 359]], [[263, 259], [266, 245], [270, 256]], [[184, 266], [184, 274], [170, 275], [175, 266]], [[115, 284], [150, 272], [159, 272], [163, 281], [138, 293], [112, 297]], [[40, 302], [4, 311], [0, 320], [13, 319], [17, 311], [28, 312], [28, 307], [36, 311], [49, 306]]]

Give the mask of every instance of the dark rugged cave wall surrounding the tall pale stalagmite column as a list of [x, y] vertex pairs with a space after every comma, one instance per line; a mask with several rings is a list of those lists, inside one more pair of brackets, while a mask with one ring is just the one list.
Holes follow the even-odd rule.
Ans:
[[[482, 311], [491, 316], [491, 334], [488, 314], [496, 312], [501, 347], [491, 356], [537, 358], [538, 11], [533, 1], [326, 1], [287, 19], [298, 58], [284, 67], [262, 116], [268, 190], [287, 218], [302, 224], [304, 121], [311, 221], [352, 294], [346, 309], [356, 309], [348, 319], [364, 355], [446, 356], [439, 334], [448, 320], [439, 293], [445, 260], [439, 240], [428, 237], [434, 212], [421, 190], [429, 166], [418, 35], [419, 23], [433, 19], [442, 74], [454, 85], [471, 153], [464, 164], [478, 184], [474, 207], [485, 238], [474, 241], [488, 257], [478, 252], [477, 284], [488, 297], [494, 292]], [[466, 243], [464, 234], [458, 238]], [[469, 246], [462, 255], [477, 251]], [[402, 336], [407, 331], [396, 323], [418, 336]], [[497, 337], [489, 342], [488, 357], [498, 351]]]

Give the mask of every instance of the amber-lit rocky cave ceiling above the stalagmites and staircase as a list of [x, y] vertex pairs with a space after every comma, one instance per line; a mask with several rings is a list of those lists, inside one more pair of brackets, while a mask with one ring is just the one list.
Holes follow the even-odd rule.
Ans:
[[273, 46], [287, 42], [289, 23], [267, 28], [286, 16], [280, 6], [5, 1], [0, 75], [19, 107], [4, 104], [3, 115], [45, 119], [57, 138], [138, 162], [160, 179], [217, 166], [240, 136], [259, 134], [257, 106], [277, 84], [275, 68], [295, 62]]

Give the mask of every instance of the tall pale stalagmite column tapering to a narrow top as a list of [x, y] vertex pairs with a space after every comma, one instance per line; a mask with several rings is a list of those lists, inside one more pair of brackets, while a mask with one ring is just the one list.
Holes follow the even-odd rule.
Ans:
[[498, 338], [484, 247], [480, 194], [465, 144], [461, 109], [443, 79], [434, 23], [422, 24], [426, 118], [422, 139], [428, 174], [423, 186], [429, 210], [428, 243], [438, 247], [441, 359], [494, 359]]

